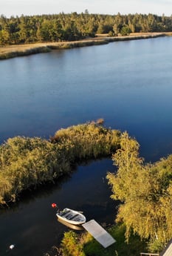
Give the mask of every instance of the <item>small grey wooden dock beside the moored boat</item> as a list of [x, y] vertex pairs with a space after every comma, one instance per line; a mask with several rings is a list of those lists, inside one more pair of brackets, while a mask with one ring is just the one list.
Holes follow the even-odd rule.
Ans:
[[86, 229], [92, 236], [104, 247], [107, 248], [111, 246], [111, 244], [115, 243], [111, 235], [103, 229], [95, 220], [89, 220], [88, 222], [84, 223], [83, 228]]

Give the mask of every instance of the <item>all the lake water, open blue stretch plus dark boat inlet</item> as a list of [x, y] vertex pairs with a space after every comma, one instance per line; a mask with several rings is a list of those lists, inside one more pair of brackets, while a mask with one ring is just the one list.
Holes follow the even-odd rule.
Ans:
[[[0, 142], [24, 135], [49, 138], [59, 128], [105, 119], [140, 142], [147, 162], [172, 152], [172, 37], [55, 50], [0, 62]], [[77, 168], [55, 186], [1, 209], [0, 255], [43, 255], [66, 228], [51, 203], [111, 223], [106, 171], [111, 160]], [[58, 241], [58, 242], [57, 242]], [[11, 243], [16, 248], [7, 252]]]

